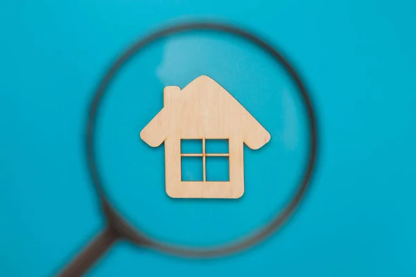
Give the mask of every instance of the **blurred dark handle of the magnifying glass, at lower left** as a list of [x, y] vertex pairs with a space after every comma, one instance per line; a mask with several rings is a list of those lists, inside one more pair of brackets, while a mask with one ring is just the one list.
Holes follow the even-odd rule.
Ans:
[[119, 238], [112, 229], [105, 229], [65, 267], [57, 277], [83, 276]]

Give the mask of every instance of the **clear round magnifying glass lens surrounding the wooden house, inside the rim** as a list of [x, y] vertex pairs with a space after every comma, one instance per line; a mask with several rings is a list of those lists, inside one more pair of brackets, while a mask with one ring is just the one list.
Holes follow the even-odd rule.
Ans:
[[[151, 148], [139, 136], [162, 109], [164, 87], [182, 89], [200, 75], [218, 82], [271, 135], [259, 150], [244, 146], [239, 199], [169, 197], [164, 144]], [[288, 73], [257, 46], [220, 33], [184, 33], [145, 48], [116, 75], [97, 118], [96, 161], [114, 208], [154, 240], [186, 247], [234, 242], [272, 221], [291, 201], [310, 148], [304, 104]], [[211, 147], [226, 151], [220, 149], [227, 144]], [[198, 158], [182, 161], [182, 179], [203, 178]], [[229, 177], [229, 159], [220, 158], [207, 157], [207, 177]]]

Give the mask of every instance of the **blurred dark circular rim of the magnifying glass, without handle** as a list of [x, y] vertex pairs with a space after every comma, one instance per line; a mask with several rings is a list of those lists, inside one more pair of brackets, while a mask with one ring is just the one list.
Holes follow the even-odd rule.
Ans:
[[[220, 33], [227, 33], [230, 35], [235, 35], [236, 37], [242, 37], [243, 39], [248, 40], [252, 44], [259, 46], [263, 49], [268, 55], [270, 55], [274, 60], [276, 60], [281, 66], [284, 67], [285, 71], [288, 73], [291, 80], [295, 83], [297, 90], [300, 93], [302, 102], [304, 103], [304, 108], [306, 109], [306, 114], [309, 119], [309, 156], [306, 164], [306, 168], [300, 179], [300, 184], [293, 195], [293, 198], [286, 205], [284, 210], [275, 217], [272, 222], [269, 222], [266, 226], [263, 226], [262, 229], [256, 233], [243, 238], [242, 240], [232, 242], [230, 244], [225, 244], [220, 247], [211, 247], [211, 248], [189, 248], [181, 247], [175, 244], [166, 244], [164, 242], [159, 242], [153, 238], [149, 238], [147, 235], [138, 231], [132, 227], [126, 220], [123, 219], [121, 213], [116, 211], [114, 206], [110, 204], [109, 199], [107, 198], [103, 186], [103, 181], [99, 175], [98, 168], [96, 165], [95, 159], [95, 150], [94, 150], [94, 135], [96, 130], [96, 121], [98, 118], [98, 110], [100, 107], [101, 100], [105, 96], [107, 87], [109, 87], [111, 81], [116, 76], [122, 67], [139, 51], [143, 50], [146, 46], [155, 42], [157, 39], [162, 39], [171, 35], [189, 32], [189, 31], [214, 31]], [[311, 177], [315, 169], [315, 163], [317, 159], [318, 152], [318, 131], [316, 123], [315, 110], [313, 109], [312, 101], [309, 96], [308, 91], [302, 82], [300, 75], [295, 71], [293, 66], [286, 60], [286, 58], [281, 55], [274, 47], [270, 46], [263, 39], [260, 39], [256, 35], [243, 30], [241, 28], [236, 28], [234, 26], [229, 26], [227, 24], [220, 24], [216, 22], [188, 22], [177, 24], [173, 26], [168, 26], [157, 30], [155, 33], [140, 39], [138, 42], [133, 44], [130, 48], [127, 49], [113, 64], [110, 66], [110, 69], [104, 75], [104, 78], [98, 85], [96, 92], [94, 93], [94, 98], [89, 105], [89, 113], [87, 117], [87, 126], [86, 126], [86, 135], [85, 135], [85, 150], [87, 154], [87, 163], [89, 173], [92, 178], [92, 184], [98, 194], [100, 203], [103, 208], [105, 218], [107, 220], [107, 227], [112, 229], [120, 236], [134, 244], [137, 244], [141, 247], [150, 247], [152, 249], [157, 249], [159, 251], [164, 251], [166, 253], [171, 253], [178, 256], [188, 256], [188, 257], [214, 257], [214, 256], [224, 256], [230, 253], [235, 253], [248, 247], [252, 247], [254, 244], [261, 242], [262, 240], [268, 238], [269, 235], [277, 231], [287, 220], [296, 208], [304, 199], [306, 191], [308, 190], [311, 184]]]

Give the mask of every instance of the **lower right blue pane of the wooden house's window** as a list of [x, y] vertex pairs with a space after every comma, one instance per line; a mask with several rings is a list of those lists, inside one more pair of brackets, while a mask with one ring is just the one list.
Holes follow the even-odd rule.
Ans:
[[229, 181], [228, 157], [206, 157], [207, 181]]

